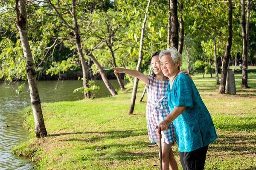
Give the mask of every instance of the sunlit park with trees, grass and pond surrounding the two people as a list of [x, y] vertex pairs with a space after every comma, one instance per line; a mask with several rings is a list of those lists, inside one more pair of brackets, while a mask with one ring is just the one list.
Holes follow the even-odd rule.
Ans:
[[217, 131], [205, 169], [256, 169], [255, 0], [0, 4], [1, 168], [158, 169], [145, 85], [110, 68], [148, 74], [174, 46]]

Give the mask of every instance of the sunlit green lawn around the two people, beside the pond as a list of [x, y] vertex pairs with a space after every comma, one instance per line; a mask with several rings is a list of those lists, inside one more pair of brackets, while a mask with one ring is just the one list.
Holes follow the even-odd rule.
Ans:
[[[218, 94], [209, 74], [192, 77], [218, 135], [209, 145], [205, 170], [256, 169], [256, 70], [249, 70], [251, 89], [241, 89], [241, 74], [235, 76], [237, 95]], [[139, 83], [133, 115], [127, 114], [132, 84], [126, 88], [113, 97], [44, 103], [49, 136], [31, 137], [13, 153], [31, 157], [38, 170], [158, 170], [158, 147], [147, 134], [146, 96], [139, 102], [144, 85]], [[24, 114], [33, 131], [32, 109]], [[172, 148], [181, 170], [177, 145]]]

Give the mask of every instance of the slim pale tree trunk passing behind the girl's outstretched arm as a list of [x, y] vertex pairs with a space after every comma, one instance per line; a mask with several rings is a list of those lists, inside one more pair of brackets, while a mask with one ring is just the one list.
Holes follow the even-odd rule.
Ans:
[[[150, 6], [150, 3], [151, 3], [151, 0], [148, 0], [148, 6], [146, 8], [144, 21], [143, 21], [142, 28], [141, 28], [139, 60], [138, 60], [137, 68], [136, 68], [137, 71], [140, 71], [140, 65], [141, 65], [141, 62], [142, 62], [142, 59], [143, 59], [143, 51], [142, 50], [143, 50], [144, 31], [145, 31], [145, 24], [146, 24], [146, 21], [147, 21], [148, 7]], [[131, 105], [130, 105], [130, 109], [128, 111], [128, 114], [132, 114], [134, 112], [138, 82], [139, 82], [139, 79], [137, 79], [135, 77], [134, 78], [134, 87], [133, 87], [132, 95], [131, 95]]]

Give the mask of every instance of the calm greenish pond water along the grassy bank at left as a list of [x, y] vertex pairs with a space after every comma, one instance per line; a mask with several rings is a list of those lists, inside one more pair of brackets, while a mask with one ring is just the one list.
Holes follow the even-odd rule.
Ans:
[[[119, 89], [117, 80], [110, 80], [114, 88]], [[18, 82], [13, 85], [5, 85], [0, 82], [0, 170], [32, 170], [30, 160], [20, 158], [11, 153], [11, 148], [26, 141], [27, 131], [23, 128], [23, 119], [20, 115], [26, 106], [30, 105], [28, 85], [23, 88], [20, 95], [15, 93]], [[126, 82], [124, 82], [126, 83]], [[83, 99], [83, 94], [73, 94], [74, 89], [82, 86], [82, 81], [38, 81], [38, 90], [41, 102], [73, 101]], [[96, 97], [111, 96], [102, 80], [96, 80], [100, 87]], [[7, 125], [9, 127], [7, 127]]]

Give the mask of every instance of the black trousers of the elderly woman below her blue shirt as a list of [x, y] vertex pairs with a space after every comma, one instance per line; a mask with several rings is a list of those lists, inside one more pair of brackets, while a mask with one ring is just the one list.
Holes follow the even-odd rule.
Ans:
[[179, 152], [183, 170], [204, 170], [208, 145], [191, 152]]

